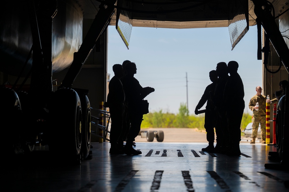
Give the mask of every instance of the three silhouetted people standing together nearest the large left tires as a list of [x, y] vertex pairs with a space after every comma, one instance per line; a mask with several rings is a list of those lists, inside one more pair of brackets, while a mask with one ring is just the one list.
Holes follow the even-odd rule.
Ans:
[[[143, 100], [154, 88], [142, 87], [134, 77], [136, 64], [125, 60], [123, 64], [112, 66], [114, 77], [108, 85], [107, 102], [111, 117], [110, 154], [139, 155], [141, 151], [133, 148], [136, 136], [140, 132], [143, 114], [148, 104]], [[147, 108], [147, 109], [146, 109]], [[124, 141], [126, 141], [124, 145]]]

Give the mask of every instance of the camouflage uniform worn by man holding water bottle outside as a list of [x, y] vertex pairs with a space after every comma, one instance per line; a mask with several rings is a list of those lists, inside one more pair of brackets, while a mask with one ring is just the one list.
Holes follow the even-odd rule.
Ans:
[[[253, 111], [252, 138], [257, 137], [259, 123], [261, 124], [261, 139], [266, 141], [266, 96], [257, 94], [249, 102], [249, 108]], [[259, 103], [259, 110], [255, 110], [256, 103]]]

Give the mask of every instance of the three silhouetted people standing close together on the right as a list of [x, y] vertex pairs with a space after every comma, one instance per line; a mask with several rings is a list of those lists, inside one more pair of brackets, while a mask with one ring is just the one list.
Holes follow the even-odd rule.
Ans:
[[[216, 70], [210, 71], [212, 83], [205, 89], [195, 114], [205, 102], [205, 129], [209, 146], [202, 151], [240, 156], [241, 121], [245, 108], [244, 85], [238, 74], [238, 63], [219, 62]], [[230, 74], [230, 75], [228, 75]], [[214, 146], [214, 128], [216, 146]]]

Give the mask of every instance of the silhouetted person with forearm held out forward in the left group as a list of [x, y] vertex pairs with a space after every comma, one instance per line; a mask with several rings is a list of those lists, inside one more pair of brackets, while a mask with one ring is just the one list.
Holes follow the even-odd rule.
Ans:
[[142, 152], [135, 150], [132, 145], [135, 141], [136, 136], [140, 132], [140, 125], [142, 123], [143, 113], [141, 109], [141, 102], [151, 92], [154, 92], [155, 89], [151, 87], [142, 87], [138, 80], [134, 78], [136, 74], [136, 64], [127, 63], [125, 66], [127, 74], [123, 78], [123, 88], [125, 91], [125, 99], [128, 105], [129, 120], [130, 120], [130, 129], [127, 134], [127, 141], [125, 144], [125, 154], [127, 155], [139, 155]]

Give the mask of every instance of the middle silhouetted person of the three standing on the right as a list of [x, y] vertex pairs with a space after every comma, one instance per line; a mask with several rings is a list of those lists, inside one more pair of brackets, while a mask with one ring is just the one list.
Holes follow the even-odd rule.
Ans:
[[216, 67], [216, 72], [218, 75], [218, 80], [216, 83], [216, 88], [214, 96], [212, 98], [215, 105], [217, 113], [216, 121], [216, 153], [225, 153], [228, 140], [229, 140], [229, 131], [227, 127], [227, 118], [226, 118], [226, 107], [224, 105], [224, 89], [229, 77], [227, 71], [227, 64], [225, 62], [219, 62]]

